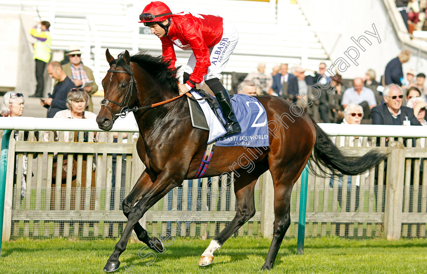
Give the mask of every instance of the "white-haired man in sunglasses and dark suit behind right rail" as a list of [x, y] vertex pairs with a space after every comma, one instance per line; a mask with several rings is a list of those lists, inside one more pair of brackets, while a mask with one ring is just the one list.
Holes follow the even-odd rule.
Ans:
[[[372, 109], [374, 125], [421, 125], [414, 116], [414, 111], [402, 106], [403, 93], [396, 84], [387, 85], [383, 90], [384, 104]], [[409, 121], [405, 122], [404, 121]]]

